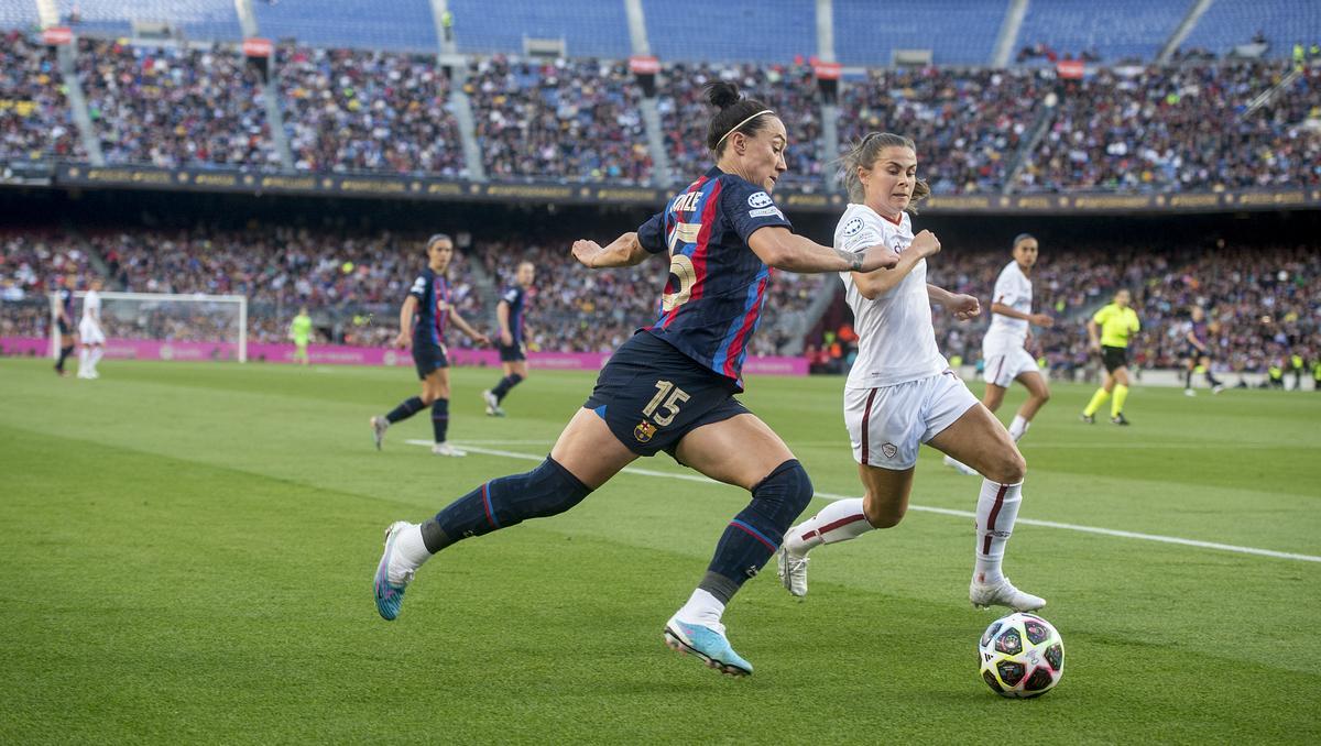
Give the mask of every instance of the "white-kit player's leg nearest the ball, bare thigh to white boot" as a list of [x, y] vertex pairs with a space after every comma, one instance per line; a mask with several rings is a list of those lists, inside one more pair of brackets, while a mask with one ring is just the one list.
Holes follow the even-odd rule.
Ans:
[[985, 407], [971, 407], [952, 425], [929, 441], [935, 449], [976, 469], [985, 479], [978, 498], [976, 562], [968, 598], [974, 606], [1008, 606], [1030, 611], [1045, 599], [1024, 593], [1001, 572], [1005, 545], [1013, 533], [1022, 500], [1028, 465], [1004, 425]]

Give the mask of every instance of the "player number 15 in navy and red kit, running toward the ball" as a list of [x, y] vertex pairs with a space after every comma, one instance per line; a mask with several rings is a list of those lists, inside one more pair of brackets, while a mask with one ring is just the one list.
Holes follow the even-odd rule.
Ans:
[[420, 526], [391, 524], [375, 577], [383, 618], [399, 614], [407, 584], [436, 552], [564, 512], [633, 459], [663, 450], [712, 479], [752, 491], [748, 507], [724, 527], [697, 589], [666, 622], [666, 644], [724, 673], [752, 673], [725, 636], [725, 605], [770, 560], [812, 496], [789, 446], [734, 399], [771, 267], [869, 272], [898, 257], [884, 246], [853, 254], [795, 235], [770, 197], [787, 168], [783, 121], [731, 83], [712, 82], [705, 91], [720, 108], [707, 133], [716, 166], [637, 232], [605, 247], [573, 243], [573, 257], [590, 269], [664, 255], [670, 273], [655, 323], [616, 350], [540, 466], [486, 482]]

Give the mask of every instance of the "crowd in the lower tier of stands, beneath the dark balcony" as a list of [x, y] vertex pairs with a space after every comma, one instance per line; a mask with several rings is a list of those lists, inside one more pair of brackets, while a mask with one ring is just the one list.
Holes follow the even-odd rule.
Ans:
[[[657, 316], [666, 283], [659, 260], [589, 272], [573, 263], [568, 242], [456, 238], [460, 251], [449, 271], [453, 302], [478, 329], [494, 333], [495, 300], [511, 281], [517, 264], [536, 264], [526, 316], [532, 350], [609, 351]], [[423, 235], [260, 226], [90, 235], [58, 230], [0, 232], [0, 335], [46, 335], [48, 289], [69, 275], [85, 288], [103, 268], [108, 272], [107, 289], [244, 294], [250, 304], [248, 338], [254, 342], [284, 341], [288, 320], [305, 305], [324, 341], [383, 346], [398, 331], [399, 304], [424, 265], [424, 240]], [[90, 255], [100, 261], [92, 264]], [[988, 294], [1007, 261], [1003, 252], [972, 250], [946, 251], [929, 263], [933, 283], [978, 296], [984, 309], [983, 317], [972, 322], [954, 322], [935, 313], [937, 337], [946, 355], [967, 363], [980, 358]], [[835, 280], [828, 275], [777, 272], [750, 353], [795, 350], [806, 335], [803, 314], [823, 283]], [[1086, 320], [1119, 288], [1132, 290], [1143, 322], [1143, 331], [1131, 345], [1139, 368], [1181, 364], [1193, 305], [1207, 312], [1211, 358], [1219, 370], [1260, 372], [1288, 355], [1300, 354], [1308, 360], [1321, 355], [1321, 252], [1314, 247], [1231, 244], [1153, 251], [1128, 246], [1057, 248], [1046, 243], [1033, 288], [1037, 310], [1052, 314], [1057, 323], [1033, 329], [1032, 350], [1055, 375], [1066, 378], [1094, 367]], [[145, 312], [129, 314], [120, 329], [165, 339], [214, 339], [223, 333], [215, 325], [232, 322], [229, 312], [215, 314], [211, 322], [184, 317], [190, 313], [203, 312], [186, 306], [161, 310], [156, 317]], [[827, 316], [826, 323], [834, 335], [826, 353], [816, 349], [808, 354], [824, 355], [819, 362], [830, 363], [828, 349], [840, 341], [840, 320]], [[472, 346], [461, 334], [452, 334], [450, 343]], [[834, 368], [843, 370], [849, 362], [847, 345], [838, 347]]]

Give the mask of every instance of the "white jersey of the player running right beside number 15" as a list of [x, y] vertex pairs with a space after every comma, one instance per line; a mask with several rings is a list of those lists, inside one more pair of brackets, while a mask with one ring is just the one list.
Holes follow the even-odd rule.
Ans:
[[[867, 205], [849, 205], [835, 228], [835, 248], [857, 254], [882, 243], [902, 255], [913, 243], [913, 223], [905, 213], [898, 223]], [[844, 279], [844, 300], [853, 309], [857, 360], [848, 388], [875, 388], [941, 375], [950, 363], [935, 346], [931, 301], [926, 293], [926, 259], [898, 285], [872, 300], [863, 297], [851, 272]]]

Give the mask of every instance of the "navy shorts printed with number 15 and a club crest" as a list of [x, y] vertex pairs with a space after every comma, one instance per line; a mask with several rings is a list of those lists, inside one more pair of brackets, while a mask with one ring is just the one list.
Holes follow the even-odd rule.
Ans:
[[734, 390], [733, 379], [642, 331], [610, 356], [583, 407], [633, 453], [674, 456], [679, 441], [701, 425], [749, 413]]

